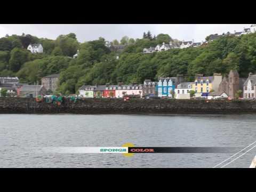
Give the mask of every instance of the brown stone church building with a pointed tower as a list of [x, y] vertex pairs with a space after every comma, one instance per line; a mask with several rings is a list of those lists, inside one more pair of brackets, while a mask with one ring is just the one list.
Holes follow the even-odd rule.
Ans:
[[228, 77], [223, 77], [218, 92], [227, 93], [229, 98], [235, 98], [238, 90], [243, 90], [245, 78], [239, 78], [237, 70], [230, 70]]

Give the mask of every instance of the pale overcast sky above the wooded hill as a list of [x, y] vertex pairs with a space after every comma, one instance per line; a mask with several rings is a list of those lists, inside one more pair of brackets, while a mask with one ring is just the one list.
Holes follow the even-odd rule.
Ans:
[[230, 31], [242, 31], [249, 24], [0, 24], [0, 37], [6, 34], [21, 35], [22, 33], [35, 35], [39, 38], [55, 39], [59, 35], [75, 33], [79, 42], [91, 41], [99, 37], [107, 41], [120, 40], [127, 35], [130, 38], [141, 38], [144, 31], [153, 35], [169, 34], [172, 38], [201, 42], [207, 35], [222, 34]]

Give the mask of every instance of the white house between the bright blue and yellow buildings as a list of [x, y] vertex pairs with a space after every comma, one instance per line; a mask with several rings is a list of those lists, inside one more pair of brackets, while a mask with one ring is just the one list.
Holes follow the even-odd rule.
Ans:
[[183, 82], [177, 85], [175, 89], [176, 99], [190, 99], [190, 91], [194, 82]]

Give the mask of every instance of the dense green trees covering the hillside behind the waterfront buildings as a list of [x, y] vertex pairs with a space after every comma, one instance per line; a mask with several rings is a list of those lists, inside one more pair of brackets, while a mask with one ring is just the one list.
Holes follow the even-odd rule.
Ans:
[[[105, 46], [105, 39], [79, 43], [76, 35], [60, 35], [56, 40], [22, 34], [0, 38], [0, 76], [18, 76], [21, 82], [34, 84], [43, 76], [60, 73], [59, 92], [75, 93], [83, 84], [142, 83], [159, 76], [183, 74], [193, 81], [195, 74], [227, 74], [237, 69], [241, 77], [256, 71], [256, 33], [226, 36], [201, 47], [171, 49], [143, 54], [144, 47], [176, 41], [169, 35], [144, 33], [141, 39], [127, 36], [113, 44], [125, 44], [116, 53]], [[43, 54], [31, 54], [29, 43], [42, 43]], [[72, 56], [79, 49], [76, 59]]]

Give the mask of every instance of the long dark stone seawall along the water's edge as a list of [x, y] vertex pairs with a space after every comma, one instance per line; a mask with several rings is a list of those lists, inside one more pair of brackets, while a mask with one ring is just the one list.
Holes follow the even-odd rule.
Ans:
[[73, 113], [73, 114], [223, 114], [255, 113], [256, 101], [250, 100], [175, 100], [175, 99], [85, 99], [63, 105], [35, 102], [33, 98], [0, 98], [0, 113]]

